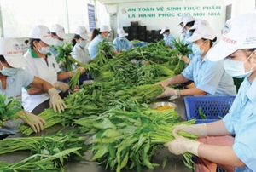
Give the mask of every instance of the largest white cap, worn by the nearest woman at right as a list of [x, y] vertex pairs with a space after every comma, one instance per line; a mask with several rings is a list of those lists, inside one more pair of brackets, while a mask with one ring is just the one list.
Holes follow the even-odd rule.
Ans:
[[208, 51], [207, 58], [222, 60], [237, 49], [256, 48], [256, 13], [237, 15], [224, 25], [220, 41]]

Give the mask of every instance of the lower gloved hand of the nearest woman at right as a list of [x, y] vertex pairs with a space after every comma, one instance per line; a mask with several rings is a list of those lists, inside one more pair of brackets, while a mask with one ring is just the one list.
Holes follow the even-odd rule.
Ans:
[[198, 147], [201, 144], [199, 141], [189, 140], [183, 136], [178, 136], [177, 139], [169, 141], [165, 144], [168, 150], [175, 155], [180, 155], [185, 152], [190, 152], [198, 156]]

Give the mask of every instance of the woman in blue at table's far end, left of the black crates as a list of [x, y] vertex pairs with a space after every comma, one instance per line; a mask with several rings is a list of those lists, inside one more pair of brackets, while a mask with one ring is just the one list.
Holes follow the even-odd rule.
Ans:
[[115, 37], [113, 39], [113, 44], [114, 44], [114, 50], [119, 53], [122, 51], [125, 51], [127, 49], [131, 49], [133, 45], [129, 42], [127, 38], [125, 38], [125, 31], [123, 28], [119, 27], [117, 29], [117, 33], [119, 37]]

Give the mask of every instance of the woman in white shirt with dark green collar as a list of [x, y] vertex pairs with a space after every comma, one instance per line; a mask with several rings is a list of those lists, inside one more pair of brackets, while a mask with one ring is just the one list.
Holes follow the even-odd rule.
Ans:
[[[26, 71], [52, 83], [61, 92], [61, 97], [67, 96], [69, 85], [59, 81], [72, 77], [76, 70], [83, 73], [84, 68], [78, 68], [72, 72], [61, 72], [55, 56], [49, 52], [49, 46], [55, 45], [56, 42], [51, 37], [47, 26], [35, 26], [30, 34], [29, 41], [30, 48], [24, 54]], [[26, 111], [38, 115], [44, 109], [49, 108], [49, 95], [40, 89], [26, 87], [22, 89], [22, 103]]]

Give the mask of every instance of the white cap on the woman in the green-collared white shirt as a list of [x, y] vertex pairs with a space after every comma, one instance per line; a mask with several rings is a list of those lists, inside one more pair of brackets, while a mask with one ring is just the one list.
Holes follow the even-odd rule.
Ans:
[[32, 32], [30, 33], [29, 37], [33, 38], [33, 39], [40, 39], [41, 41], [43, 41], [44, 43], [46, 43], [48, 45], [56, 44], [55, 39], [53, 37], [51, 37], [49, 28], [44, 25], [35, 26], [32, 29]]

